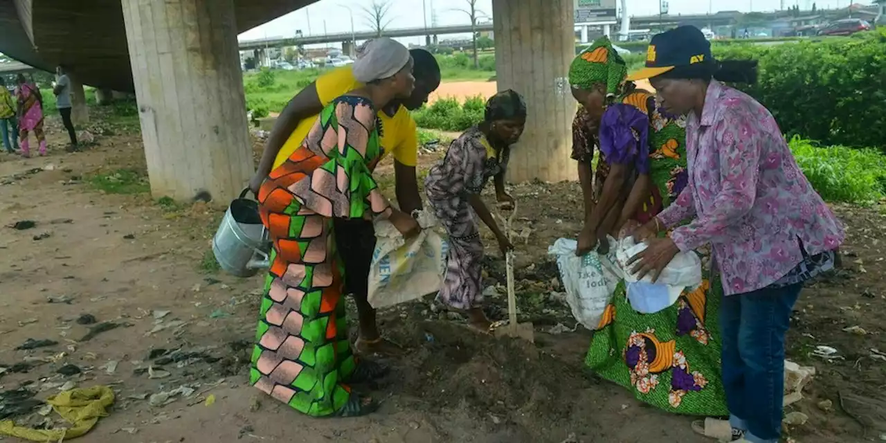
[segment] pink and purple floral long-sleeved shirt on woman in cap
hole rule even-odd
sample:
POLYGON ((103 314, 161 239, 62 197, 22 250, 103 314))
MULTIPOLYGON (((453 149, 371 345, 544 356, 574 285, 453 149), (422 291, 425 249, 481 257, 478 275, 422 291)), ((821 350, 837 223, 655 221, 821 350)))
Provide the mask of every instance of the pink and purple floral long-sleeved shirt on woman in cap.
POLYGON ((711 244, 726 295, 757 291, 833 251, 843 226, 797 166, 772 114, 713 81, 701 119, 688 115, 689 183, 658 220, 680 251, 711 244))

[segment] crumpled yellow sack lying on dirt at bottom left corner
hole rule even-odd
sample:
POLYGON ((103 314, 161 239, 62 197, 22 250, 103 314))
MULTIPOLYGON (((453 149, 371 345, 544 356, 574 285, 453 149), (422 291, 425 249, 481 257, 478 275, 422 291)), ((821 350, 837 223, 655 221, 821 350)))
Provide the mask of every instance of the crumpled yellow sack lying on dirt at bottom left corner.
POLYGON ((67 429, 36 430, 16 426, 12 420, 0 422, 0 435, 40 442, 76 439, 91 431, 98 419, 107 416, 113 404, 113 391, 107 386, 93 386, 61 392, 46 400, 58 415, 72 424, 67 429))

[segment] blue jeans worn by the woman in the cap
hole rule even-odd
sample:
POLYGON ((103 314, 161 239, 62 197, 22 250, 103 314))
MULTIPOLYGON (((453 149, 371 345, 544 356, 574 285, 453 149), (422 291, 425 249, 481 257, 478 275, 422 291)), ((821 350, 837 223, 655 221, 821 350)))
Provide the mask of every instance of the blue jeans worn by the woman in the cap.
POLYGON ((724 297, 723 387, 729 422, 753 443, 777 443, 784 396, 784 336, 803 284, 724 297))

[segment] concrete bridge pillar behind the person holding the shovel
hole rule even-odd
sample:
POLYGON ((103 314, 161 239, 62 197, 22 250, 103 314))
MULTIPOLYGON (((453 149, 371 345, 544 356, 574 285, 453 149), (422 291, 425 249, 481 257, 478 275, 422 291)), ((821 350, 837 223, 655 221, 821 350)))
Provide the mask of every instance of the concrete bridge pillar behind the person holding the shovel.
POLYGON ((571 154, 569 66, 575 57, 573 0, 493 0, 498 89, 514 89, 529 116, 511 153, 512 182, 559 182, 578 176, 571 154))

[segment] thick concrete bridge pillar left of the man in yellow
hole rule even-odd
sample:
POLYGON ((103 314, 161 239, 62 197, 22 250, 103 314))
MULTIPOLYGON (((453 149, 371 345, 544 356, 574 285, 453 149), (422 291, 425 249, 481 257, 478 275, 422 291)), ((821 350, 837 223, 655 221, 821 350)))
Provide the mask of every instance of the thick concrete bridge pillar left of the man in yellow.
POLYGON ((233 0, 122 0, 155 197, 227 202, 253 174, 233 0))

